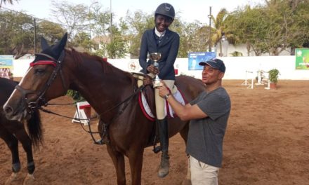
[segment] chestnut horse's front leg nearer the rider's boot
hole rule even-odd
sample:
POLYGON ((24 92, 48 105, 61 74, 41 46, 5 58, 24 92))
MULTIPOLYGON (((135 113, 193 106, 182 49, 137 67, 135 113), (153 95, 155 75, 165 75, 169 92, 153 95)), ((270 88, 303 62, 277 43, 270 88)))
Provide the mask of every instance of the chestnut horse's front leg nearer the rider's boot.
POLYGON ((131 149, 128 153, 132 185, 140 185, 143 167, 144 149, 131 149))

